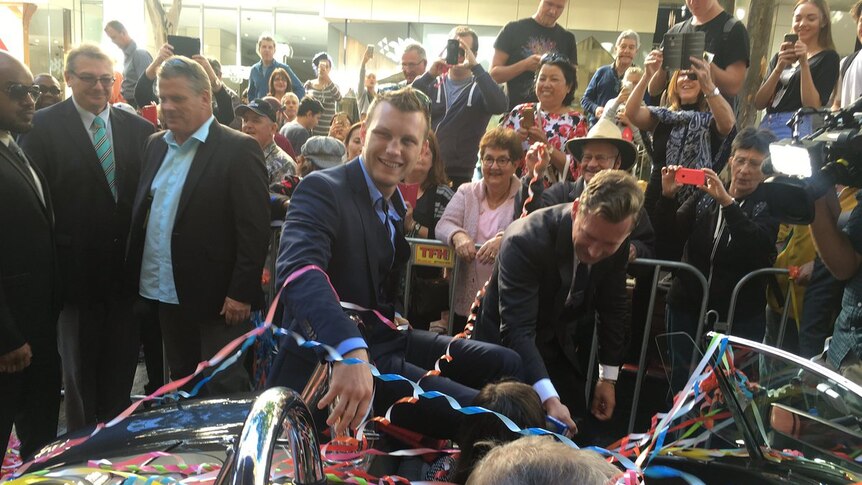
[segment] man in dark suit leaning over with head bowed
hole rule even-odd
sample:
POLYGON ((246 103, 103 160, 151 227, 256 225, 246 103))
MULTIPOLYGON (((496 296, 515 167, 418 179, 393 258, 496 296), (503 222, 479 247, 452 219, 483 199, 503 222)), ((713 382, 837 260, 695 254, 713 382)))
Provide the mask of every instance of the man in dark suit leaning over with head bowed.
POLYGON ((574 203, 538 210, 506 229, 474 338, 502 341, 524 360, 526 381, 548 415, 574 430, 585 408, 585 369, 572 336, 598 313, 599 381, 592 414, 613 415, 624 350, 629 234, 643 191, 621 170, 592 177, 574 203))

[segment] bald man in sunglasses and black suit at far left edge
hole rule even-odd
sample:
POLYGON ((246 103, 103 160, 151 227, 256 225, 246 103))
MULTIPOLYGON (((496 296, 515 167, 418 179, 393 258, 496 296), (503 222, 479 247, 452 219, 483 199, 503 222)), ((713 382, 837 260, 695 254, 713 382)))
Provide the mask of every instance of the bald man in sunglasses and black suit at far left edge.
POLYGON ((48 185, 13 140, 32 125, 39 87, 0 52, 0 454, 12 425, 29 456, 57 436, 60 295, 48 185))

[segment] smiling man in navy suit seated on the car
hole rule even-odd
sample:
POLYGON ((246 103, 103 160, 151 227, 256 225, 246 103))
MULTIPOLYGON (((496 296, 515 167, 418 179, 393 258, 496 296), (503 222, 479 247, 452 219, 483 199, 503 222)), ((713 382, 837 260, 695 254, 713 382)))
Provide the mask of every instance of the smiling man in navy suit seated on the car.
MULTIPOLYGON (((299 184, 282 229, 277 263, 279 282, 294 277, 281 296, 283 324, 344 357, 370 359, 383 373, 422 379, 426 391, 438 390, 468 405, 486 383, 517 376, 521 359, 493 344, 452 341, 409 329, 398 313, 399 285, 410 252, 398 183, 427 145, 428 129, 428 100, 421 93, 408 87, 381 94, 361 131, 362 154, 314 172, 299 184), (362 323, 357 325, 343 307, 352 308, 362 323), (453 359, 441 364, 442 376, 423 379, 450 342, 453 359)), ((270 385, 302 389, 324 357, 285 338, 270 385)), ((372 394, 379 414, 412 393, 405 383, 377 386, 373 393, 367 366, 336 363, 329 392, 318 403, 321 409, 337 403, 327 424, 338 432, 355 428, 372 394)), ((396 425, 440 438, 454 437, 459 424, 458 415, 442 399, 396 406, 391 417, 396 425)))

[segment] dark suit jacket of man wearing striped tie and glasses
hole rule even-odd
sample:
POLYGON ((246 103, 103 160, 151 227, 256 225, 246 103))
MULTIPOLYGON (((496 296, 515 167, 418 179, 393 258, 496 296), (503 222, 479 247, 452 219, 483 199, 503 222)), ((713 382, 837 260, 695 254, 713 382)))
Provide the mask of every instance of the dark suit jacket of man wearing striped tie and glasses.
POLYGON ((149 121, 111 109, 117 201, 91 135, 69 98, 36 112, 21 148, 45 174, 54 199, 56 240, 67 302, 103 301, 122 285, 132 201, 149 121))

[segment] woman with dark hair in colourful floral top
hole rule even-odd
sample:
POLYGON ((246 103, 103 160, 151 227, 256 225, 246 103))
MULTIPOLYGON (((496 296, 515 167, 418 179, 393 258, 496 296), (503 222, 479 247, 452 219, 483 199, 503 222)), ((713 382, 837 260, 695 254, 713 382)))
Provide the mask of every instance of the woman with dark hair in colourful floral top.
MULTIPOLYGON (((525 151, 537 141, 548 144, 551 148, 551 163, 545 174, 548 183, 577 178, 575 171, 578 164, 564 149, 570 139, 587 134, 586 123, 581 122, 581 113, 570 107, 575 97, 575 82, 575 68, 567 58, 546 54, 536 74, 536 97, 539 102, 515 106, 501 122, 504 128, 518 132, 525 151), (523 128, 522 122, 528 108, 535 113, 535 119, 533 126, 523 128)), ((531 172, 532 167, 525 167, 524 173, 531 172)))

